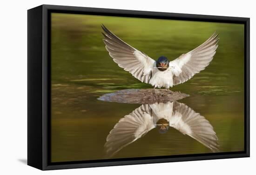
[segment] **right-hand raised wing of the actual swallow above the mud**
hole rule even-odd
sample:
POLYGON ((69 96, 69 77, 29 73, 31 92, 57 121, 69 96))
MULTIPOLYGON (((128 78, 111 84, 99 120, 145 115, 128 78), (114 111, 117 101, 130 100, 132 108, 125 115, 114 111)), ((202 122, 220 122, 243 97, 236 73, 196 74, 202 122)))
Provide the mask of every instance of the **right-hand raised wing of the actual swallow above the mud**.
POLYGON ((174 85, 188 81, 196 73, 205 69, 212 61, 218 47, 218 34, 216 32, 203 44, 191 50, 186 54, 182 54, 169 63, 173 71, 174 85))

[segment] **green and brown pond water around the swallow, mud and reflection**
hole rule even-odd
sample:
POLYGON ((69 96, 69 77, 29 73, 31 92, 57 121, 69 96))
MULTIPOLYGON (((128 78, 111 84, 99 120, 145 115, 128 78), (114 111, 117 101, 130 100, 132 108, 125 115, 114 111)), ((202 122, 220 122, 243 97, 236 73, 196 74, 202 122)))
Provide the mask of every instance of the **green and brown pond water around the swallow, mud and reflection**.
POLYGON ((217 31, 219 47, 210 65, 171 90, 189 94, 175 103, 209 121, 218 137, 214 152, 244 150, 243 25, 53 13, 52 162, 213 152, 174 127, 165 133, 151 128, 132 143, 125 142, 125 147, 117 146, 115 154, 106 152, 109 132, 141 104, 98 98, 117 90, 153 87, 113 62, 102 42, 101 24, 151 58, 163 55, 169 60, 193 50, 217 31))

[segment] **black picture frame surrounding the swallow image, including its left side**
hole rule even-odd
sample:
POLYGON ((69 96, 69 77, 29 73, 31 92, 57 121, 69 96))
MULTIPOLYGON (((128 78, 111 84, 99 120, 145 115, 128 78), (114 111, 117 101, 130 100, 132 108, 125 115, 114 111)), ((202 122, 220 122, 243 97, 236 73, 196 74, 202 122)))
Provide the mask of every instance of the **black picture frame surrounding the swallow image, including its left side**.
POLYGON ((27 11, 27 164, 41 170, 249 157, 249 18, 41 5, 27 11), (51 12, 244 24, 244 151, 50 162, 51 12))

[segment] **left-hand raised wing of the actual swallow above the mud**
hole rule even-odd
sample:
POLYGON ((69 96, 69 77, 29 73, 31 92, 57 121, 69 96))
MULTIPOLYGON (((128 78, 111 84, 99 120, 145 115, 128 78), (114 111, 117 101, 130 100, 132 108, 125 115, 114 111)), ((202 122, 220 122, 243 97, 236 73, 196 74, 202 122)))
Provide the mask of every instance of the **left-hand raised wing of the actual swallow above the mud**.
POLYGON ((105 33, 102 33, 104 36, 103 42, 106 44, 106 49, 114 62, 141 82, 148 83, 152 76, 155 60, 126 44, 104 25, 101 25, 101 27, 105 31, 105 33))

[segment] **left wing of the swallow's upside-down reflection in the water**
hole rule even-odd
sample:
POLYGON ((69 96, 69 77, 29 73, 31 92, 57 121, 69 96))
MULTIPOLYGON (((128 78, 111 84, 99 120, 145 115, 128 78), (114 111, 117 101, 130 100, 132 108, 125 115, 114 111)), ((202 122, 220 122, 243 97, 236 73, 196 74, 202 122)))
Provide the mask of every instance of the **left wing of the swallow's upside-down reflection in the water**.
POLYGON ((141 105, 129 115, 120 119, 109 132, 107 142, 104 145, 107 155, 113 156, 123 147, 131 144, 153 129, 153 118, 148 105, 141 105))

